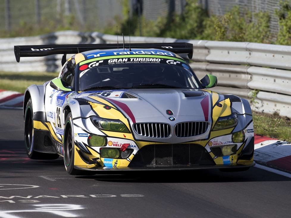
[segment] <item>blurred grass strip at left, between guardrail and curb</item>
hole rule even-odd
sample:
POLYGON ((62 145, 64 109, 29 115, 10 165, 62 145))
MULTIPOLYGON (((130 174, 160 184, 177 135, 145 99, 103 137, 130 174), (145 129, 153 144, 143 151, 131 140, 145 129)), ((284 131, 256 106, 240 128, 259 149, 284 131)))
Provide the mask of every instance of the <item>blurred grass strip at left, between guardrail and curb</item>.
POLYGON ((50 72, 3 72, 0 71, 0 89, 24 93, 32 85, 41 85, 45 81, 56 78, 58 73, 50 72))

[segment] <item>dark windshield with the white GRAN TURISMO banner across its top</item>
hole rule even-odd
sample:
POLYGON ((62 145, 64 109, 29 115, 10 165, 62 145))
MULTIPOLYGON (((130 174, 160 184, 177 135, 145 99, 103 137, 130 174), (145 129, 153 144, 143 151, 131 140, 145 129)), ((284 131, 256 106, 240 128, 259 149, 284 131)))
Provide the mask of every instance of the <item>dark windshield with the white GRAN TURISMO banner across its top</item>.
POLYGON ((79 90, 199 88, 183 62, 166 58, 120 58, 80 64, 79 90))

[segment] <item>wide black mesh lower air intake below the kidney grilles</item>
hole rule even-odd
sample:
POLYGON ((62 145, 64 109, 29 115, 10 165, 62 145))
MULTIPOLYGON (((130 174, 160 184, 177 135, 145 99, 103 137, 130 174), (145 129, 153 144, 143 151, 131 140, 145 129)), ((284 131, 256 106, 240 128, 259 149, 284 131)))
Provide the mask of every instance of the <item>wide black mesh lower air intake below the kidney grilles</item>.
POLYGON ((196 144, 147 145, 137 151, 129 167, 214 165, 208 151, 196 144))

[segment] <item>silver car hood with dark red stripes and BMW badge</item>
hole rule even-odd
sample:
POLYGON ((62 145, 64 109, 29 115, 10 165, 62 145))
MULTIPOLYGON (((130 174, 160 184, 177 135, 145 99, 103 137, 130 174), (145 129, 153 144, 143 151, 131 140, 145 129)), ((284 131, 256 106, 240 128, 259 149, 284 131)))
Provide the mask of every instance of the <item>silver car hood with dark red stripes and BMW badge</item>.
MULTIPOLYGON (((213 104, 224 101, 224 96, 216 92, 200 89, 129 89, 103 92, 86 92, 79 97, 101 97, 118 107, 132 123, 165 122, 172 116, 180 120, 210 121, 213 104), (214 103, 213 103, 214 102, 214 103), (166 113, 171 110, 173 115, 166 113), (182 118, 184 117, 184 118, 182 118)), ((216 110, 217 116, 222 113, 223 105, 216 110)))

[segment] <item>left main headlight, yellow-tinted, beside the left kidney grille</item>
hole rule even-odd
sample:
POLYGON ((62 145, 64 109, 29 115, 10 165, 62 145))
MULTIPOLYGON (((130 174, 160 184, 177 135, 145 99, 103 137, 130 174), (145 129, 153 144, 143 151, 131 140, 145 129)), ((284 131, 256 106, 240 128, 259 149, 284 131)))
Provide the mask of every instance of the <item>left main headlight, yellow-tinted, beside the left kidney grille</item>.
POLYGON ((99 129, 113 132, 130 133, 126 125, 120 120, 104 119, 98 116, 91 116, 90 119, 99 129))

